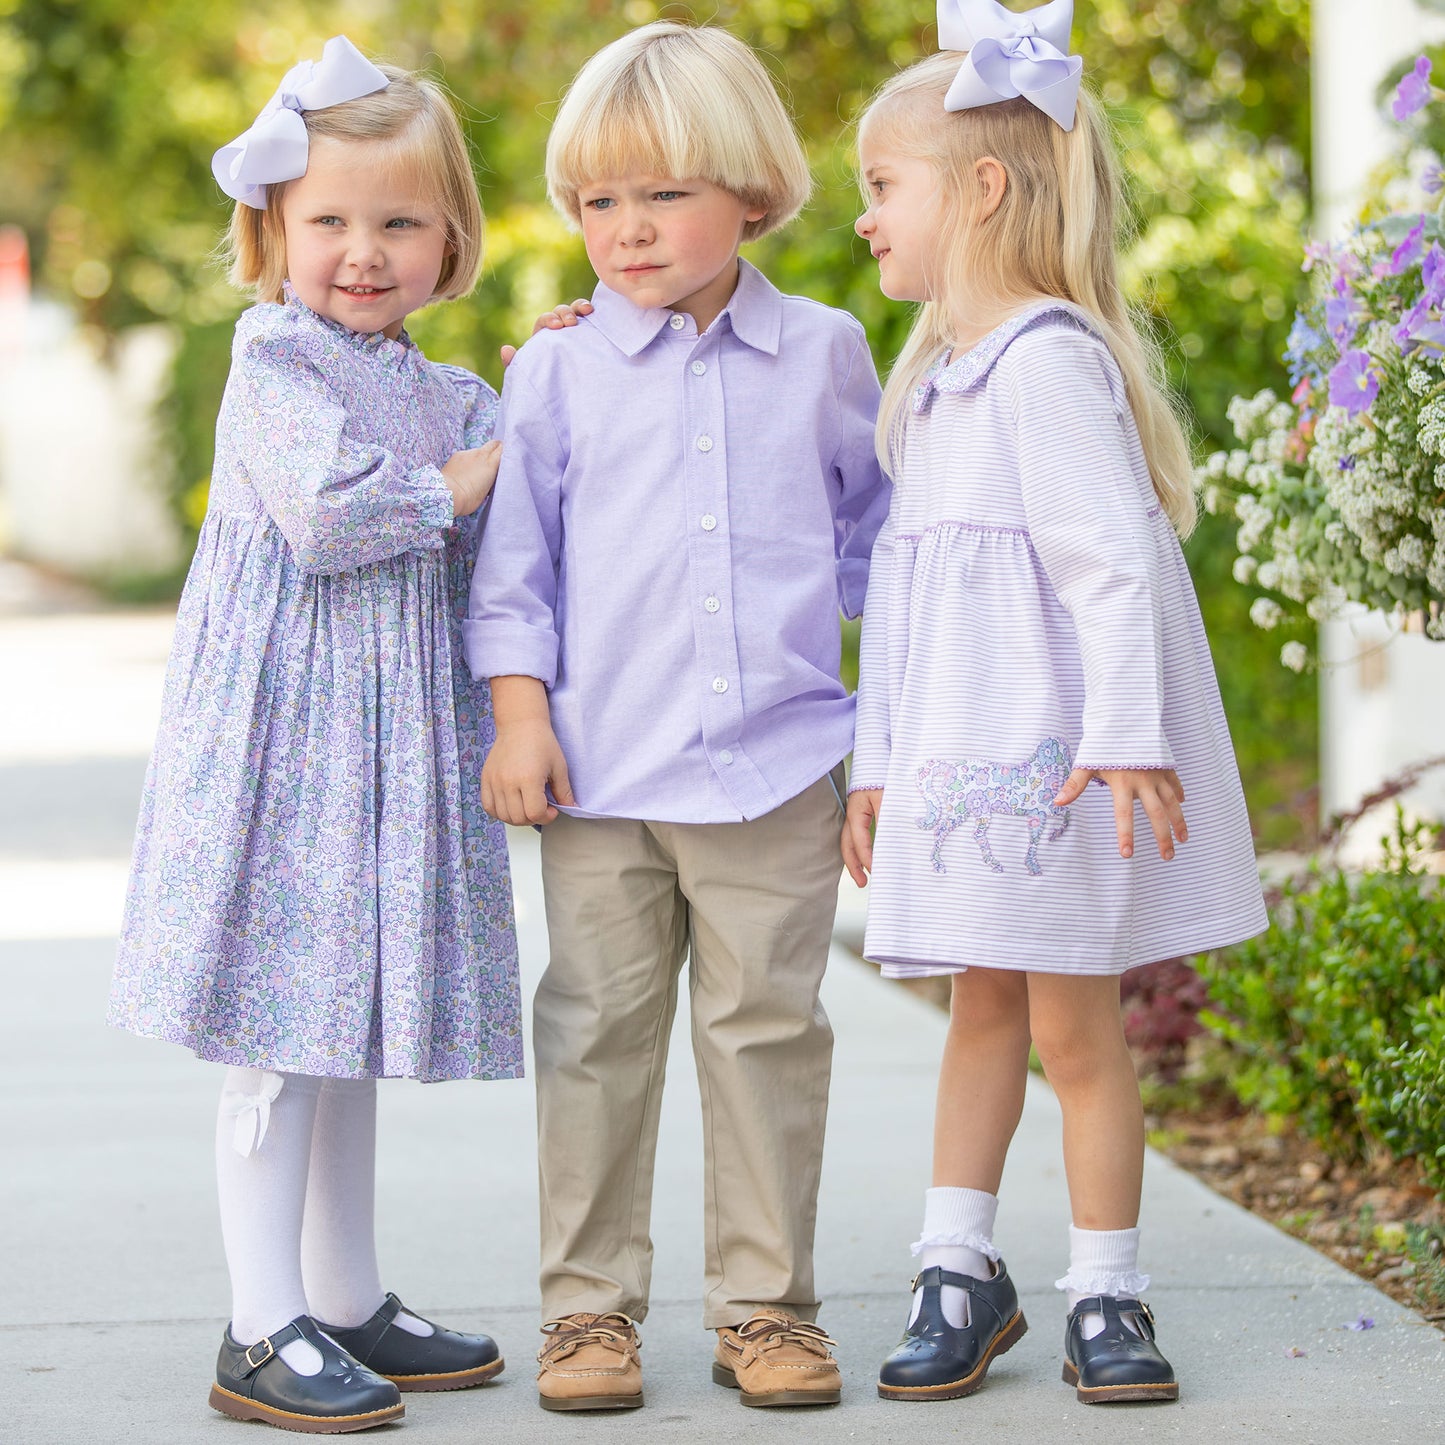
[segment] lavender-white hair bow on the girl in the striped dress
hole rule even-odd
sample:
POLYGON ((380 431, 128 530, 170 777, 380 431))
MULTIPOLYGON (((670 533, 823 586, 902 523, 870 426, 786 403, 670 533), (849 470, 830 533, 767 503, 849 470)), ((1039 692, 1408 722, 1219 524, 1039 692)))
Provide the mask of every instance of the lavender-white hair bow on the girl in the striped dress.
POLYGON ((938 45, 967 51, 945 110, 972 110, 1022 95, 1064 130, 1074 129, 1084 61, 1069 55, 1074 0, 1023 14, 996 0, 938 0, 938 45))

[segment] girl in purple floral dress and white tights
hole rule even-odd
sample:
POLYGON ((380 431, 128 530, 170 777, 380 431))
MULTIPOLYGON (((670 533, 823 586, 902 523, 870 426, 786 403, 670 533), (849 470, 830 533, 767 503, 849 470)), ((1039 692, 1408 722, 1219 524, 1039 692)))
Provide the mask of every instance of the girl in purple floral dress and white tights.
POLYGON ((377 1273, 376 1079, 522 1072, 506 840, 461 663, 496 394, 403 329, 481 210, 429 81, 344 38, 214 163, 238 321, 181 600, 110 1020, 227 1066, 233 1315, 211 1405, 334 1433, 477 1384, 496 1344, 377 1273))

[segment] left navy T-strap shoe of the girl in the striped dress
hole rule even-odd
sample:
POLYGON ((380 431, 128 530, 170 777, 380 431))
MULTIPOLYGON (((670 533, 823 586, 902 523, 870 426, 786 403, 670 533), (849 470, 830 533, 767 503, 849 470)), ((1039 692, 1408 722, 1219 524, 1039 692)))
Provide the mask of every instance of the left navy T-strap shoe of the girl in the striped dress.
POLYGON ((988 1366, 1029 1328, 1003 1260, 993 1279, 933 1266, 913 1280, 913 1289, 923 1290, 918 1315, 879 1371, 884 1400, 957 1400, 972 1394, 988 1366), (968 1296, 965 1322, 957 1329, 944 1318, 945 1285, 968 1296))

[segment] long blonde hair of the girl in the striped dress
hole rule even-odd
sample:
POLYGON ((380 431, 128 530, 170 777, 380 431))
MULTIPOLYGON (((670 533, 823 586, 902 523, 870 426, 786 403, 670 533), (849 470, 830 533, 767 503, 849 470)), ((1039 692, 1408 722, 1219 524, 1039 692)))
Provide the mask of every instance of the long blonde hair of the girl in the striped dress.
POLYGON ((929 163, 938 176, 932 301, 889 374, 879 412, 879 458, 896 471, 905 403, 959 332, 988 331, 1040 298, 1069 301, 1098 327, 1124 377, 1155 493, 1186 536, 1196 507, 1189 444, 1163 377, 1157 345, 1136 321, 1118 282, 1123 191, 1108 124, 1081 91, 1072 131, 1023 98, 946 111, 944 95, 962 55, 931 55, 887 81, 860 123, 860 140, 929 163), (981 224, 977 162, 1007 172, 997 210, 981 224))

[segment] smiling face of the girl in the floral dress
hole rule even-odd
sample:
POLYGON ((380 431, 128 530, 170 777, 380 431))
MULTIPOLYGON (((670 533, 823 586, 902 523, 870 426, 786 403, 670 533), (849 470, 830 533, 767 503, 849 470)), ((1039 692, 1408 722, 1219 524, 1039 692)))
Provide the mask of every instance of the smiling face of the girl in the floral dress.
POLYGON ((405 162, 368 142, 311 142, 306 173, 280 202, 286 276, 312 311, 393 341, 436 293, 447 223, 405 162))

